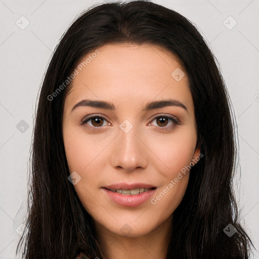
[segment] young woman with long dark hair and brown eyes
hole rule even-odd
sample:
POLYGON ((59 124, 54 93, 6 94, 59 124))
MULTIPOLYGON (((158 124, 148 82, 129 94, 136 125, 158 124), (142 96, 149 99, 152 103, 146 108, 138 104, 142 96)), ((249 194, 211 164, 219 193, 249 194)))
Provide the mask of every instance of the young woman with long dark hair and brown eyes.
POLYGON ((40 92, 24 258, 248 258, 231 115, 185 17, 147 1, 81 14, 40 92))

